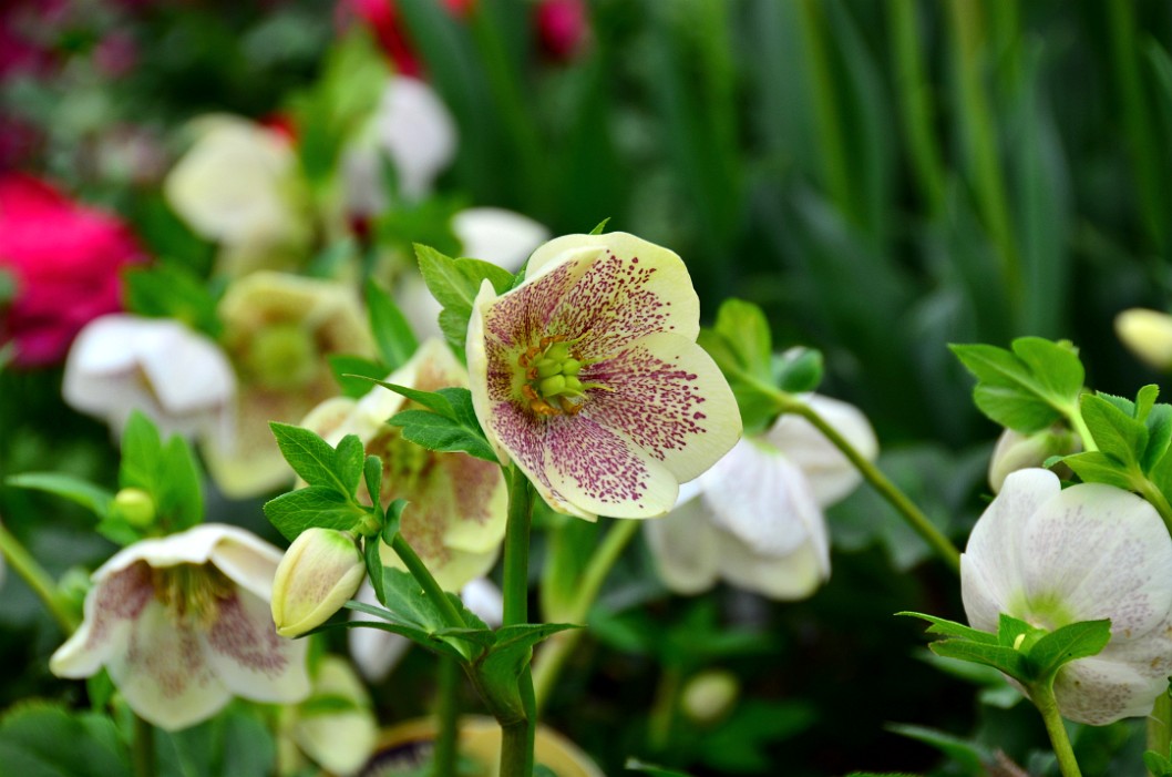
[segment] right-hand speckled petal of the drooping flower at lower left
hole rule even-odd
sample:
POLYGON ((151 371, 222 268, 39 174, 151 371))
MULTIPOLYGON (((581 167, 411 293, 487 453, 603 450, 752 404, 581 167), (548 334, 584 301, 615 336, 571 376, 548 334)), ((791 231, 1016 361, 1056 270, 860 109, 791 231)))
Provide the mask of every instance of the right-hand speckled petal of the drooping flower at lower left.
POLYGON ((238 696, 291 703, 309 693, 308 642, 278 636, 265 599, 238 589, 222 600, 202 642, 216 675, 238 696))

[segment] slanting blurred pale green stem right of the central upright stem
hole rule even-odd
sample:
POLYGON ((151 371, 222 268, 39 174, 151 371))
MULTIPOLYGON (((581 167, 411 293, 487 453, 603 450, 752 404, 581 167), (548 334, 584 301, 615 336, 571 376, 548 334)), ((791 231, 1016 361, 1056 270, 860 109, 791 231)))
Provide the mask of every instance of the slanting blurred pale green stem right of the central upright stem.
MULTIPOLYGON (((602 582, 638 531, 638 520, 616 520, 611 526, 586 565, 586 571, 578 585, 578 594, 565 612, 554 614, 556 620, 564 620, 567 623, 584 623, 586 621, 586 614, 594 600, 598 599, 602 582)), ((553 687, 557 684, 558 675, 561 674, 566 659, 581 640, 582 633, 582 629, 575 628, 554 634, 537 654, 537 659, 533 661, 533 689, 537 695, 538 710, 545 707, 548 701, 550 694, 553 693, 553 687)))

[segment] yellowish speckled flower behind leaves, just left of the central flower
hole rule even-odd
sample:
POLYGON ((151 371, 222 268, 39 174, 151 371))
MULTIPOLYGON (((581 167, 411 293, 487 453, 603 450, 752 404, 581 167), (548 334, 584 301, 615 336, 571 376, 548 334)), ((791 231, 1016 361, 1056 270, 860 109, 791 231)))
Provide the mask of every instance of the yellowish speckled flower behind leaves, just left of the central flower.
MULTIPOLYGON (((468 384, 468 374, 440 340, 428 340, 388 382, 422 391, 468 384)), ((301 425, 336 444, 359 436, 368 456, 382 459, 383 504, 407 499, 400 532, 427 563, 444 591, 458 591, 497 560, 507 518, 507 489, 500 468, 466 454, 440 454, 403 439, 387 420, 410 407, 398 394, 375 388, 361 400, 335 397, 315 408, 301 425)), ((364 486, 363 486, 364 488, 364 486)), ((406 570, 383 545, 382 561, 406 570)))

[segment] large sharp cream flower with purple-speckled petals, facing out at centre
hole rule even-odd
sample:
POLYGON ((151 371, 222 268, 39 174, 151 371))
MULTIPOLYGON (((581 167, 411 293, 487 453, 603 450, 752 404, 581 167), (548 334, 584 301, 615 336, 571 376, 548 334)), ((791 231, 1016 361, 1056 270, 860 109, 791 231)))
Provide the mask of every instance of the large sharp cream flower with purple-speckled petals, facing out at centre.
POLYGON ((557 238, 517 288, 481 287, 468 327, 476 415, 554 510, 662 514, 741 435, 699 332, 672 251, 621 232, 557 238))

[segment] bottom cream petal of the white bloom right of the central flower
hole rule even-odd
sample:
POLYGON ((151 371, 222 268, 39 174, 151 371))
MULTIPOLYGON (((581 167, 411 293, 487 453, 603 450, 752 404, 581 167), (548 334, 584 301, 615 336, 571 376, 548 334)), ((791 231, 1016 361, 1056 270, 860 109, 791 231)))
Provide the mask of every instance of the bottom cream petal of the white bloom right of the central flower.
POLYGON ((825 526, 785 556, 758 552, 729 532, 720 532, 720 571, 731 585, 770 599, 805 599, 830 579, 825 526))

